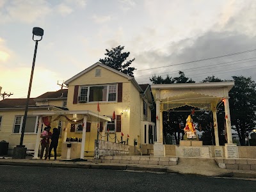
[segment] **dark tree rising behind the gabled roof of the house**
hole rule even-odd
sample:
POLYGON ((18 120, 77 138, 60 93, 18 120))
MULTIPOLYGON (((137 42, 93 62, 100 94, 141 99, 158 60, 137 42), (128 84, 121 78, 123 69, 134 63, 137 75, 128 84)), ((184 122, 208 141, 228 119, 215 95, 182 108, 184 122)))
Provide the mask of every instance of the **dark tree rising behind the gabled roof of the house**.
POLYGON ((99 61, 104 65, 108 65, 109 67, 115 68, 116 70, 127 74, 128 76, 134 77, 133 71, 136 70, 136 68, 129 66, 131 65, 132 61, 135 60, 135 58, 124 63, 124 61, 129 57, 130 52, 122 52, 123 49, 124 46, 120 45, 112 48, 110 51, 106 49, 107 52, 105 55, 108 57, 100 59, 99 61))

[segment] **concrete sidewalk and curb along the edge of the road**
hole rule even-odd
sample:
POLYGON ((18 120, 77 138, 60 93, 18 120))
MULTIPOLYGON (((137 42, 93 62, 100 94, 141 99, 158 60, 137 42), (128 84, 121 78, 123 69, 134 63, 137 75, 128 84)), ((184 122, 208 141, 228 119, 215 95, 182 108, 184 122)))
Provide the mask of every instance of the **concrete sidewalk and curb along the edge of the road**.
POLYGON ((179 159, 177 165, 162 166, 162 165, 145 165, 145 164, 122 164, 122 163, 95 163, 90 157, 88 161, 57 161, 32 159, 12 159, 12 157, 0 157, 0 165, 12 166, 44 166, 44 167, 60 167, 60 168, 90 168, 90 169, 104 169, 104 170, 127 170, 127 171, 141 171, 141 172, 161 172, 161 173, 182 173, 182 174, 196 174, 208 177, 239 177, 239 178, 253 178, 256 179, 255 171, 246 170, 226 170, 221 169, 214 163, 214 159, 209 161, 193 161, 193 159, 179 159), (193 164, 193 166, 191 166, 193 164))

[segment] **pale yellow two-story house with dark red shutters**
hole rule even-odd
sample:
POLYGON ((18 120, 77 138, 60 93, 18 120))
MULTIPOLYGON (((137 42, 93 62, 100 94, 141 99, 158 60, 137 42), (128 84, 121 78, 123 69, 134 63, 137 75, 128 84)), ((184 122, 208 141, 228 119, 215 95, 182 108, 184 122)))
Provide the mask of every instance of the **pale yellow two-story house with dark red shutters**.
MULTIPOLYGON (((65 84, 67 90, 47 92, 31 99, 28 116, 33 122, 28 122, 28 118, 24 145, 33 144, 37 149, 40 132, 47 124, 60 130, 60 144, 67 138, 81 138, 81 157, 93 156, 97 138, 126 141, 126 145, 136 145, 138 149, 156 141, 156 126, 151 122, 153 97, 149 84, 139 85, 133 77, 99 62, 65 84), (36 129, 37 125, 40 128, 36 129)), ((17 99, 17 104, 4 106, 8 100, 12 103, 12 99, 0 102, 0 140, 8 141, 12 151, 19 145, 26 99, 17 99)))

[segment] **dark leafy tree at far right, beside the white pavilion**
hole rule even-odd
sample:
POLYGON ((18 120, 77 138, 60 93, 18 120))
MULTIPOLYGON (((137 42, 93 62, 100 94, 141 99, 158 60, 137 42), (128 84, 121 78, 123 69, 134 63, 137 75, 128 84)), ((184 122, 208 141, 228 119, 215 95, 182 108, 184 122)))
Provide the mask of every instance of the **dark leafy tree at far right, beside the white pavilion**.
POLYGON ((237 131, 241 145, 245 136, 255 128, 256 84, 252 77, 233 76, 234 87, 229 92, 231 125, 237 131))

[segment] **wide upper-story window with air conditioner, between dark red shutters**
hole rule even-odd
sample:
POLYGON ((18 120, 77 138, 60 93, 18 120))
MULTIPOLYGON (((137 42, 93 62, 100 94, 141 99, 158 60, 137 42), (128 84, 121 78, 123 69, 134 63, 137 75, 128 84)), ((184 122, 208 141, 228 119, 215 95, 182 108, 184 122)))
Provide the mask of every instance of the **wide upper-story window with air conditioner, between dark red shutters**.
POLYGON ((116 101, 116 84, 101 86, 81 86, 79 102, 116 101))

